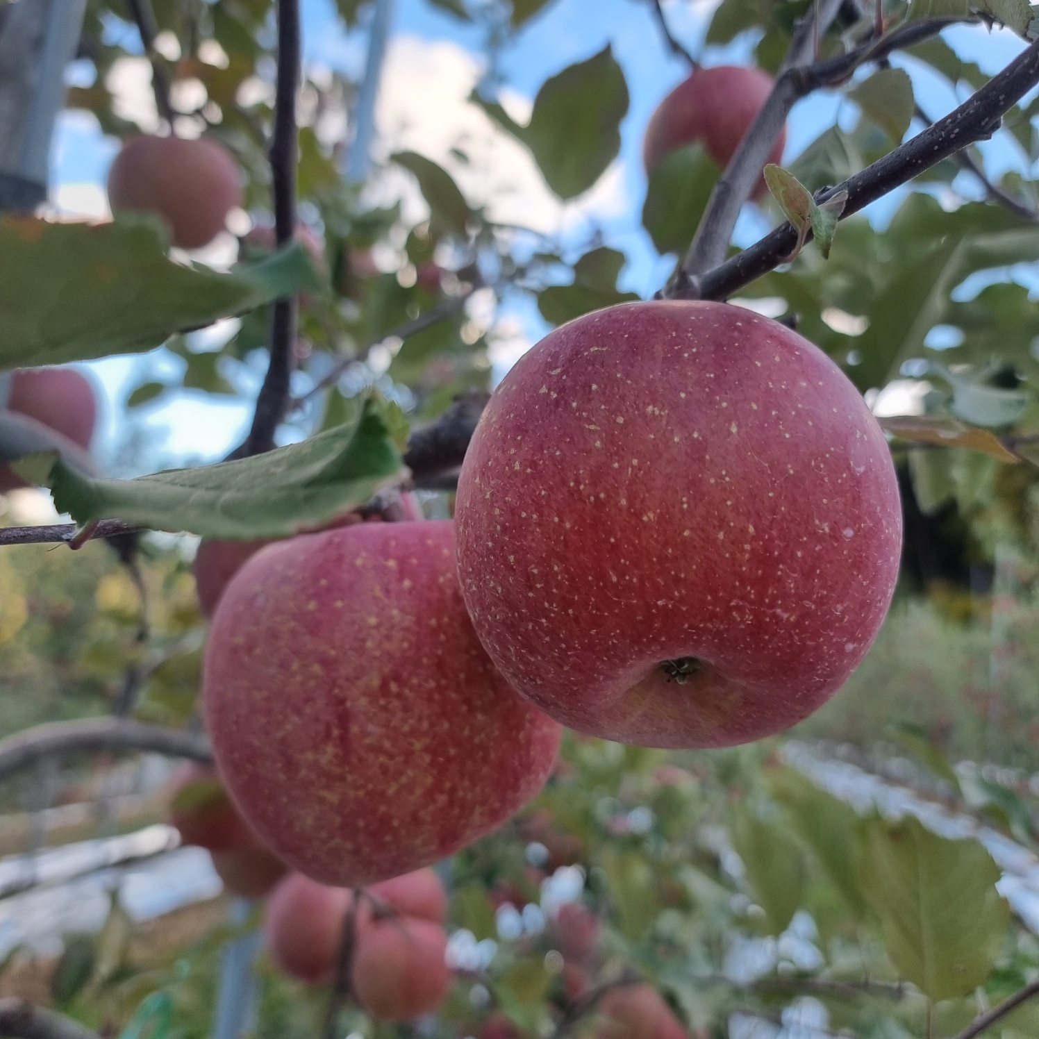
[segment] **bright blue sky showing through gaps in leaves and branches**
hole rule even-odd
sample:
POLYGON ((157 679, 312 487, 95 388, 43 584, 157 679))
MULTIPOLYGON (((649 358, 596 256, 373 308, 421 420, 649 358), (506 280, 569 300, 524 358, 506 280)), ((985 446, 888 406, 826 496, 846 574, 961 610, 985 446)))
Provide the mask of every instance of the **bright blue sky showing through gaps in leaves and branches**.
MULTIPOLYGON (((672 0, 665 3, 672 31, 686 47, 708 64, 746 62, 752 41, 738 39, 726 48, 702 50, 701 42, 714 3, 672 0)), ((331 0, 302 0, 305 60, 339 68, 357 75, 364 65, 365 33, 347 33, 339 22, 331 0)), ((444 14, 426 0, 398 0, 394 21, 394 39, 408 38, 412 46, 450 42, 462 51, 482 54, 481 31, 444 14)), ((945 38, 964 58, 977 61, 983 70, 993 73, 1002 68, 1023 44, 1007 31, 988 33, 981 28, 948 30, 945 38)), ((646 0, 555 0, 545 11, 529 23, 500 57, 500 69, 509 90, 533 99, 538 87, 549 77, 567 64, 589 57, 606 44, 624 70, 631 94, 631 107, 622 127, 622 149, 615 193, 622 205, 596 214, 596 224, 603 229, 608 244, 622 249, 629 258, 622 275, 625 288, 642 295, 651 294, 662 284, 670 269, 670 261, 656 256, 639 222, 645 179, 640 149, 643 129, 656 105, 687 74, 684 61, 664 45, 646 0)), ((957 98, 939 79, 913 62, 900 61, 913 76, 917 100, 932 117, 943 114, 957 103, 957 98)), ((406 88, 388 81, 383 88, 392 94, 406 88)), ((960 99, 962 100, 962 99, 960 99)), ((406 105, 407 99, 401 99, 406 105)), ((834 118, 850 128, 857 118, 852 104, 831 94, 816 95, 801 102, 793 111, 788 127, 787 158, 796 156, 830 126, 834 118)), ((115 151, 116 143, 104 138, 96 126, 82 115, 60 121, 54 142, 52 182, 55 186, 101 185, 115 151)), ((1020 158, 1005 141, 985 145, 986 161, 994 175, 1006 168, 1020 167, 1020 158)), ((609 176, 609 175, 607 175, 609 176)), ((959 186, 959 185, 958 185, 959 186)), ((965 191, 974 187, 964 180, 965 191)), ((883 199, 873 207, 871 215, 880 221, 887 218, 899 198, 883 199)), ((737 230, 737 240, 748 244, 768 229, 756 211, 749 207, 737 230)), ((585 229, 586 230, 586 229, 585 229)), ((582 237, 580 221, 569 234, 582 237)), ((515 316, 529 340, 536 339, 543 325, 532 307, 514 308, 515 316)), ((108 408, 109 422, 98 445, 102 455, 110 451, 126 430, 116 424, 117 405, 148 366, 176 366, 175 358, 164 351, 145 358, 113 358, 94 367, 113 405, 108 408)), ((261 373, 246 374, 240 382, 244 394, 255 389, 261 373)), ((241 436, 248 418, 248 402, 223 404, 194 394, 183 394, 177 400, 160 402, 151 409, 141 409, 134 421, 150 430, 155 448, 150 455, 163 463, 176 463, 191 458, 210 460, 219 457, 241 436)))

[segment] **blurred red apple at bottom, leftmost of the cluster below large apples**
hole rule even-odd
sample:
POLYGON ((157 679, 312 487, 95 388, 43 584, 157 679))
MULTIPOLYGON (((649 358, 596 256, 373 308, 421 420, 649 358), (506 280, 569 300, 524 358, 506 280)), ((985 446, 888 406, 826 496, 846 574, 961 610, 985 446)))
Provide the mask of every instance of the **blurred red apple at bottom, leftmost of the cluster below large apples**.
POLYGON ((271 894, 264 921, 267 947, 278 968, 314 985, 330 980, 352 900, 345 887, 289 874, 271 894))

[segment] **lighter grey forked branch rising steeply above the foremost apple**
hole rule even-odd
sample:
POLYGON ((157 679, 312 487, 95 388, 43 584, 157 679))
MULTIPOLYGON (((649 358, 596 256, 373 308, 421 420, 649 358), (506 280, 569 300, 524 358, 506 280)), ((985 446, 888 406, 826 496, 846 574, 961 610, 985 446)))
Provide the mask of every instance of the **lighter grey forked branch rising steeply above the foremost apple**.
MULTIPOLYGON (((725 259, 740 210, 754 190, 762 168, 768 160, 772 145, 782 132, 790 110, 801 98, 821 87, 843 83, 860 65, 871 61, 882 61, 895 50, 911 47, 936 35, 950 25, 964 21, 956 18, 934 18, 910 22, 886 36, 869 39, 847 54, 827 61, 805 65, 792 60, 798 55, 807 53, 806 42, 812 25, 821 25, 823 18, 827 16, 832 20, 837 7, 840 4, 833 7, 832 12, 829 8, 824 9, 818 22, 806 19, 798 27, 801 38, 795 36, 791 43, 790 53, 776 78, 772 92, 711 192, 708 207, 696 229, 696 236, 689 247, 675 285, 672 286, 674 291, 665 292, 665 295, 691 298, 688 291, 689 283, 704 271, 717 267, 725 259), (683 288, 686 289, 685 292, 682 291, 683 288)), ((966 19, 966 21, 975 20, 966 19)))

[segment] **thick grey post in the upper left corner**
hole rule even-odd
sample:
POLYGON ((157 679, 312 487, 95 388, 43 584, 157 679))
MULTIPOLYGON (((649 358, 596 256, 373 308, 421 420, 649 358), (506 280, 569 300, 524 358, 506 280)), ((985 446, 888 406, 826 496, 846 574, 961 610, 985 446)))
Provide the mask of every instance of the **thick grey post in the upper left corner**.
POLYGON ((86 0, 18 0, 0 8, 0 210, 47 197, 54 121, 86 0))

